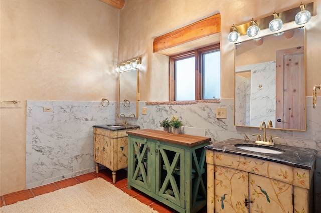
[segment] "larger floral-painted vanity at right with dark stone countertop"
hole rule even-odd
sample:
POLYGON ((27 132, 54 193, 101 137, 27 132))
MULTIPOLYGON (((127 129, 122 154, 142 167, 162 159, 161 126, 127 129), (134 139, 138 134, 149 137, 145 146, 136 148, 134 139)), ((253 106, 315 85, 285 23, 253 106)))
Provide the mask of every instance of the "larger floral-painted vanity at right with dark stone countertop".
POLYGON ((282 154, 235 147, 229 139, 206 146, 207 212, 313 212, 317 151, 276 145, 282 154))

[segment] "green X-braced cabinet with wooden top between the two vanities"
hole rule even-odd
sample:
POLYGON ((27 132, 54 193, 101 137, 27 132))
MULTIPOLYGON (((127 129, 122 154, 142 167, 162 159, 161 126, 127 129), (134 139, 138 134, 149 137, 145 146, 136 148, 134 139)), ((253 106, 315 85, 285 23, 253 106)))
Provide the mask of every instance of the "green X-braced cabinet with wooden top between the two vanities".
POLYGON ((179 212, 206 206, 204 146, 210 138, 151 129, 128 133, 128 188, 179 212))

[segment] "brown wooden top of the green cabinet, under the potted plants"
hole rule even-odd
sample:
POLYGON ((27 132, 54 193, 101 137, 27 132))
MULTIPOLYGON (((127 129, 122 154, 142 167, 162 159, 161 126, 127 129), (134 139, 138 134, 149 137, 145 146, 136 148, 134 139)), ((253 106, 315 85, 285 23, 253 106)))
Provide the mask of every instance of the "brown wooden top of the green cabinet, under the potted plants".
POLYGON ((139 137, 146 137, 154 140, 161 140, 164 142, 175 143, 188 147, 193 147, 199 144, 208 143, 211 141, 209 137, 200 137, 188 134, 173 134, 164 133, 163 131, 142 129, 135 131, 127 131, 127 134, 136 135, 139 137))

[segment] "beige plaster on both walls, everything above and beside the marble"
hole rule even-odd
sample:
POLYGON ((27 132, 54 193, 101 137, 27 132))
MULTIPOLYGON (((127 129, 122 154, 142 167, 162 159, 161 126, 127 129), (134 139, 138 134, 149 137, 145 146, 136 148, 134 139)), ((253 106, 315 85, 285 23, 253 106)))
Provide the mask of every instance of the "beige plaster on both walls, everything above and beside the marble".
MULTIPOLYGON (((0 0, 0 99, 21 101, 0 106, 0 194, 25 187, 27 99, 116 101, 114 65, 141 56, 141 100, 167 101, 169 61, 153 53, 153 39, 217 13, 221 13, 221 97, 233 98, 234 47, 226 39, 232 24, 300 2, 127 0, 119 11, 98 0, 0 0)), ((321 4, 315 3, 320 11, 321 4)), ((321 83, 320 25, 319 15, 306 24, 307 95, 321 83)))

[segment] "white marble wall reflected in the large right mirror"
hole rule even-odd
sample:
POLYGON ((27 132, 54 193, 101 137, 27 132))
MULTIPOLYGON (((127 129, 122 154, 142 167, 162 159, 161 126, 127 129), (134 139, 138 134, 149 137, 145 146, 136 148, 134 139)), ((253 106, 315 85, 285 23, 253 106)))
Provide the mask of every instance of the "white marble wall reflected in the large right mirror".
MULTIPOLYGON (((274 120, 276 111, 275 61, 236 67, 236 72, 244 71, 251 72, 249 77, 251 82, 249 84, 248 78, 245 79, 241 76, 236 78, 237 114, 242 117, 250 117, 250 126, 259 126, 262 120, 274 120), (245 93, 248 87, 250 87, 250 94, 245 93), (250 102, 242 96, 244 94, 250 96, 250 102), (245 106, 246 109, 244 109, 245 106), (244 113, 246 113, 246 116, 244 116, 244 113)), ((236 117, 236 120, 238 125, 243 125, 242 122, 246 121, 238 117, 236 117)))

